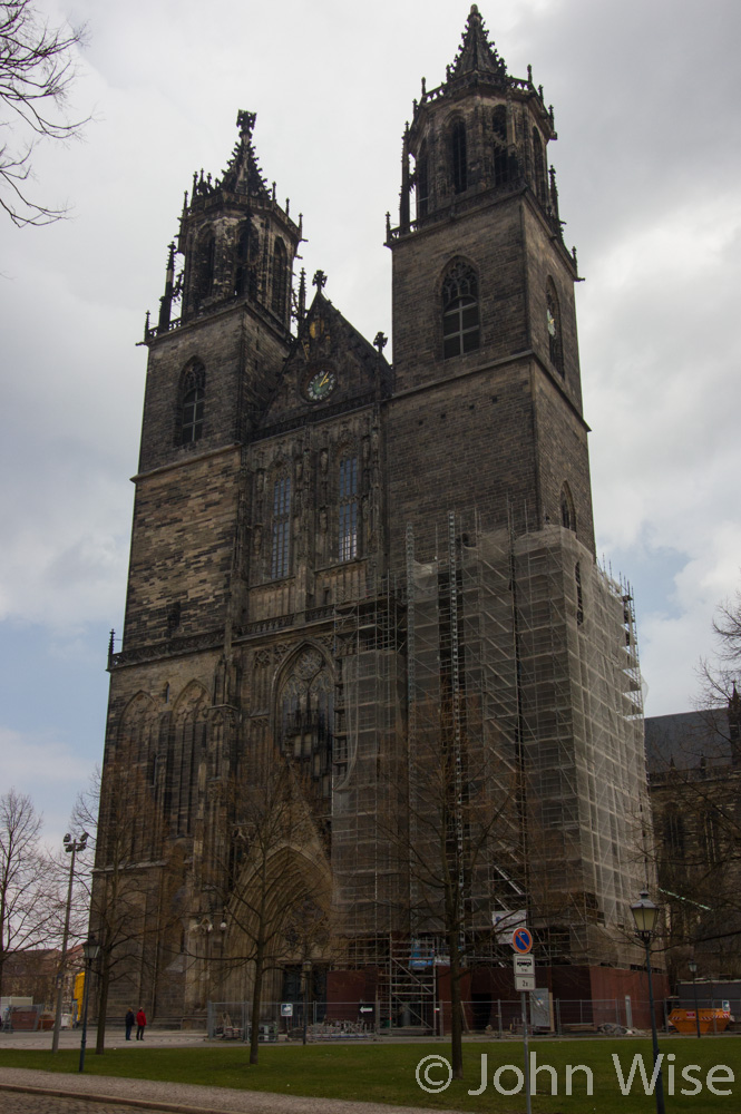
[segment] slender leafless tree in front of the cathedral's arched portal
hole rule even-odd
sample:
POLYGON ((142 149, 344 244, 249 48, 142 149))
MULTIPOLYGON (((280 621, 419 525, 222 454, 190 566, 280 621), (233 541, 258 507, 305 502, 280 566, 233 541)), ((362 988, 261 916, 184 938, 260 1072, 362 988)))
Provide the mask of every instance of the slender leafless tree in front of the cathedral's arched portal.
POLYGON ((251 968, 250 1063, 256 1064, 266 974, 296 948, 300 959, 312 958, 326 939, 331 899, 329 864, 308 794, 272 744, 252 756, 232 786, 220 844, 214 883, 228 921, 224 964, 251 968))

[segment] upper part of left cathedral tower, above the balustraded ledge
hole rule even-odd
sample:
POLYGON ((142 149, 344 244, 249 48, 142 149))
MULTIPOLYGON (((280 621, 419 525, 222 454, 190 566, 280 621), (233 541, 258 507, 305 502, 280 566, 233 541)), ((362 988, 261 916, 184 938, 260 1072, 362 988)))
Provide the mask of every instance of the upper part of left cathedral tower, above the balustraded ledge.
POLYGON ((301 241, 289 203, 276 202, 257 166, 254 121, 238 114, 240 138, 221 180, 194 175, 177 240, 183 268, 175 283, 170 245, 158 323, 146 331, 124 652, 186 635, 223 641, 243 606, 240 478, 291 343, 301 241))

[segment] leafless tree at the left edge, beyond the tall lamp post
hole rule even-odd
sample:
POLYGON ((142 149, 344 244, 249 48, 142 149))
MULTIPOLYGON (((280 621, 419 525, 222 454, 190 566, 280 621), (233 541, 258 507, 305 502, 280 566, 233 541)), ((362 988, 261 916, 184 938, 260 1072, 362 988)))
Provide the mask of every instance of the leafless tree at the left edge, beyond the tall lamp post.
POLYGON ((40 843, 42 818, 14 789, 0 797, 0 990, 7 960, 56 942, 60 901, 40 843))

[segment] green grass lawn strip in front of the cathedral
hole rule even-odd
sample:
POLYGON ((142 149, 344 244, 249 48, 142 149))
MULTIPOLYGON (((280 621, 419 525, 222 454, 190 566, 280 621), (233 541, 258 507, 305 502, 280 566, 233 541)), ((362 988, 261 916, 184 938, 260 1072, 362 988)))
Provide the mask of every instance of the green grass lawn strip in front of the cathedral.
MULTIPOLYGON (((666 1112, 686 1111, 692 1114, 709 1114, 715 1111, 738 1110, 741 1097, 741 1040, 733 1036, 664 1039, 664 1054, 675 1059, 664 1067, 664 1092, 666 1112), (699 1065, 691 1077, 682 1078, 682 1069, 699 1065), (714 1095, 708 1087, 708 1071, 716 1065, 727 1065, 729 1071, 719 1069, 711 1077, 716 1089, 730 1091, 730 1095, 714 1095), (671 1094, 671 1072, 673 1067, 674 1094, 671 1094), (732 1075, 731 1075, 732 1073, 732 1075), (694 1079, 698 1083, 693 1082, 694 1079), (738 1082, 737 1082, 738 1081, 738 1082), (688 1091, 701 1089, 691 1095, 688 1091)), ((601 1114, 624 1111, 625 1114, 641 1114, 655 1111, 655 1098, 644 1093, 640 1075, 633 1079, 630 1096, 623 1096, 617 1079, 613 1053, 620 1057, 624 1081, 627 1081, 633 1057, 640 1054, 646 1074, 651 1076, 651 1043, 635 1039, 581 1039, 552 1040, 548 1038, 530 1043, 530 1052, 537 1058, 537 1066, 547 1064, 556 1069, 557 1094, 550 1095, 550 1075, 543 1072, 537 1078, 537 1093, 533 1097, 534 1114, 601 1114), (571 1065, 585 1065, 592 1072, 594 1093, 587 1094, 586 1073, 573 1073, 572 1095, 566 1094, 567 1072, 571 1065)), ((260 1049, 260 1064, 250 1067, 248 1049, 243 1045, 195 1048, 120 1048, 96 1056, 88 1051, 85 1062, 88 1075, 118 1075, 142 1079, 173 1079, 178 1083, 206 1084, 209 1086, 237 1087, 253 1091, 271 1091, 293 1095, 312 1095, 328 1098, 362 1098, 370 1102, 397 1103, 409 1106, 428 1106, 432 1110, 447 1107, 460 1111, 519 1112, 525 1110, 524 1087, 519 1094, 510 1096, 498 1093, 493 1085, 494 1073, 503 1065, 523 1066, 523 1045, 517 1040, 491 1042, 465 1045, 465 1072, 462 1083, 454 1082, 440 1094, 427 1094, 417 1083, 417 1064, 425 1056, 449 1056, 442 1044, 372 1044, 372 1045, 264 1045, 260 1049), (486 1054, 486 1089, 480 1095, 469 1095, 469 1089, 478 1089, 481 1079, 481 1055, 486 1054)), ((2 1049, 0 1045, 0 1067, 33 1067, 52 1072, 76 1072, 78 1053, 62 1049, 56 1056, 49 1052, 25 1052, 2 1049)), ((432 1068, 433 1079, 443 1068, 432 1068)), ((499 1076, 503 1088, 517 1086, 518 1077, 511 1071, 499 1076)), ((625 1082, 626 1085, 626 1082, 625 1082)))

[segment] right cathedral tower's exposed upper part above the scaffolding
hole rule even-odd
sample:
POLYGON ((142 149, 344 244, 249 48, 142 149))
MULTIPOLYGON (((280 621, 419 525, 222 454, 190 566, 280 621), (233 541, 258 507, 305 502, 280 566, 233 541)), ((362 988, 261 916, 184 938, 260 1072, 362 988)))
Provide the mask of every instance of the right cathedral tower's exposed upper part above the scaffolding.
POLYGON ((563 522, 594 553, 555 138, 543 89, 510 77, 474 6, 445 82, 422 82, 403 136, 389 438, 416 466, 391 490, 400 522, 442 499, 516 532, 563 522))

